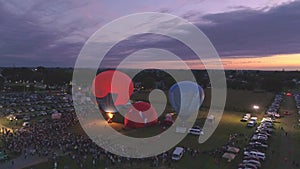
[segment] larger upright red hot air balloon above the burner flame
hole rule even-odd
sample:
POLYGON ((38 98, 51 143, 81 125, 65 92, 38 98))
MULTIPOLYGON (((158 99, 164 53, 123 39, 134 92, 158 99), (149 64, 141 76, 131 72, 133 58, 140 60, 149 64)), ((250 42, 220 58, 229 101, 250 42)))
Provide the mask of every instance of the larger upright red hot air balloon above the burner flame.
MULTIPOLYGON (((97 98, 104 98, 108 94, 116 96, 114 105, 124 105, 133 93, 133 83, 129 76, 117 70, 99 73, 92 84, 93 94, 97 98)), ((113 103, 112 103, 113 104, 113 103)))

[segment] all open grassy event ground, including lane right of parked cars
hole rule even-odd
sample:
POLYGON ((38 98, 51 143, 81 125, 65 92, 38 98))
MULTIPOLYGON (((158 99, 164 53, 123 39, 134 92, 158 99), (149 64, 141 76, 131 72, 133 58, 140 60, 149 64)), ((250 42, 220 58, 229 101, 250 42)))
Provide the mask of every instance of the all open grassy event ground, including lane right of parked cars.
MULTIPOLYGON (((250 129, 246 127, 245 123, 240 122, 241 116, 245 113, 245 111, 238 111, 238 107, 240 109, 250 110, 250 107, 253 104, 259 103, 262 110, 258 112, 252 112, 253 114, 257 114, 259 118, 263 116, 263 109, 267 107, 271 102, 273 94, 270 93, 252 93, 252 92, 244 92, 244 91, 229 91, 228 99, 227 99, 227 108, 234 109, 231 111, 225 111, 222 117, 222 120, 212 135, 212 137, 204 144, 199 144, 197 142, 197 137, 187 136, 179 146, 185 146, 189 148, 200 149, 200 151, 210 151, 215 148, 218 148, 227 143, 229 139, 229 135, 233 133, 243 133, 246 136, 251 136, 254 132, 254 129, 250 129)), ((207 103, 204 103, 204 106, 207 103)), ((203 118, 206 117, 206 109, 203 109, 199 113, 199 122, 203 121, 203 118)), ((296 165, 293 165, 293 161, 295 163, 300 163, 300 160, 296 157, 300 156, 300 152, 297 151, 300 148, 300 127, 298 127, 298 119, 299 115, 297 114, 295 102, 292 97, 284 97, 283 103, 281 104, 280 112, 289 111, 291 115, 281 118, 278 123, 276 123, 275 133, 272 135, 270 140, 267 152, 267 160, 263 164, 263 168, 273 168, 273 169, 293 169, 296 168, 296 165), (283 127, 284 130, 281 130, 283 127), (287 136, 286 136, 287 132, 287 136), (287 160, 284 160, 287 159, 287 160), (284 168, 284 167, 285 168, 284 168)), ((144 137, 159 132, 161 127, 155 126, 147 129, 135 129, 135 130, 127 130, 122 131, 121 124, 113 124, 119 126, 120 131, 124 132, 126 135, 136 136, 136 137, 144 137), (145 134, 146 133, 146 134, 145 134), (152 133, 152 134, 151 134, 152 133)), ((70 131, 78 134, 82 134, 80 126, 76 126, 70 128, 70 131)), ((240 147, 244 147, 246 141, 243 138, 239 139, 238 145, 240 147)), ((189 154, 185 154, 183 159, 179 162, 174 162, 172 164, 172 168, 180 168, 180 169, 190 169, 190 168, 203 168, 203 169, 233 169, 237 167, 237 164, 242 160, 242 151, 238 154, 237 158, 232 162, 227 162, 226 160, 222 160, 219 164, 215 163, 213 157, 207 154, 200 154, 196 158, 193 158, 189 154)), ((92 162, 90 162, 92 164, 92 162)), ((69 157, 63 156, 59 158, 58 161, 58 169, 63 169, 65 165, 68 165, 69 168, 77 169, 77 165, 72 161, 69 157)), ((29 167, 28 169, 30 169, 29 167)), ((53 168, 52 163, 42 163, 36 166, 36 168, 50 169, 53 168)), ((103 164, 99 164, 96 167, 90 165, 88 168, 103 168, 103 164)), ((133 166, 114 166, 110 168, 151 168, 149 162, 139 162, 138 164, 133 166)), ((167 165, 161 166, 160 168, 169 168, 167 165)))

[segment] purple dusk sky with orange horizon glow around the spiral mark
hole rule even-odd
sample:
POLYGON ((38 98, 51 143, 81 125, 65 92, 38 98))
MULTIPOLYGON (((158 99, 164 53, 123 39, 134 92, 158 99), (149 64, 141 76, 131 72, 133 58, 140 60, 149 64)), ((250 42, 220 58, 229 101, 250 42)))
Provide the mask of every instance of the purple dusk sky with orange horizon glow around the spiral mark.
POLYGON ((197 25, 227 69, 300 69, 300 1, 293 0, 0 0, 0 67, 73 67, 95 31, 137 12, 170 13, 197 25))

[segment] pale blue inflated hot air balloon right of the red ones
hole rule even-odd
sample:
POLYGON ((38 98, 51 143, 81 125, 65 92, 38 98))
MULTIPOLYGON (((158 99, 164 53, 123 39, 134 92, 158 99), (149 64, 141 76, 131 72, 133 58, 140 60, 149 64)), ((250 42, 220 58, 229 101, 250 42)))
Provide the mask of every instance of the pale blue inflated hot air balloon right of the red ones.
POLYGON ((169 89, 169 102, 181 117, 189 117, 198 110, 204 100, 204 91, 200 85, 191 81, 182 81, 169 89))

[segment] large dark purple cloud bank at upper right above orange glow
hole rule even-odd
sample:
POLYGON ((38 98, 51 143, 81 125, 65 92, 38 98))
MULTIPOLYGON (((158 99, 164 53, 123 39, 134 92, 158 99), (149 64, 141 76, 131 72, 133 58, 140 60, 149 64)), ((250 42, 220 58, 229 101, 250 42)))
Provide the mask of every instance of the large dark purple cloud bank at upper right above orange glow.
POLYGON ((268 11, 239 10, 203 17, 198 26, 221 56, 266 56, 300 53, 300 2, 268 11))

